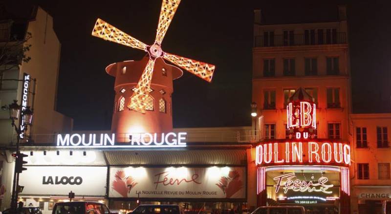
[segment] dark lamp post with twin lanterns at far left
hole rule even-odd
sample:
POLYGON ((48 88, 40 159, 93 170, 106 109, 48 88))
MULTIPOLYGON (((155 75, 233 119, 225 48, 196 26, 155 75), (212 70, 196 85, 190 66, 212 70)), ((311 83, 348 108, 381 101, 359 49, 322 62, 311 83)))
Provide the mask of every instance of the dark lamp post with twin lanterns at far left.
MULTIPOLYGON (((19 142, 21 138, 23 138, 25 131, 27 130, 26 125, 31 125, 32 119, 33 119, 33 111, 30 109, 30 107, 22 107, 18 105, 18 101, 14 100, 14 102, 10 105, 8 105, 9 109, 9 117, 12 120, 12 127, 15 128, 15 131, 17 133, 17 141, 16 141, 16 158, 20 158, 19 156, 22 156, 19 151, 19 142), (21 117, 22 114, 22 117, 21 117), (15 121, 19 119, 19 126, 15 124, 15 121)), ((14 170, 14 180, 12 185, 12 197, 11 197, 11 211, 12 213, 17 213, 17 203, 18 203, 18 191, 19 191, 19 172, 18 172, 18 165, 15 164, 15 170, 14 170)))

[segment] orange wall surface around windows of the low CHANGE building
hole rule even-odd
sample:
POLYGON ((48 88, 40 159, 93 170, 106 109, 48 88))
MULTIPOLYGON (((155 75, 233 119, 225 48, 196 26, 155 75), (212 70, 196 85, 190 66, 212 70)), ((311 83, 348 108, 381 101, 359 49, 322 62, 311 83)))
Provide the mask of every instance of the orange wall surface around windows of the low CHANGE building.
POLYGON ((388 144, 390 146, 389 131, 391 128, 391 113, 378 114, 350 114, 351 120, 351 147, 352 159, 354 162, 350 167, 351 176, 351 206, 352 211, 358 211, 359 204, 365 204, 366 200, 389 200, 391 193, 390 171, 388 179, 379 178, 379 163, 391 164, 391 148, 377 147, 377 127, 386 127, 388 130, 388 144), (357 130, 356 128, 367 129, 367 147, 357 147, 357 130), (358 164, 369 164, 369 178, 359 179, 358 164), (362 195, 370 194, 370 195, 362 195), (372 195, 373 194, 373 195, 372 195))

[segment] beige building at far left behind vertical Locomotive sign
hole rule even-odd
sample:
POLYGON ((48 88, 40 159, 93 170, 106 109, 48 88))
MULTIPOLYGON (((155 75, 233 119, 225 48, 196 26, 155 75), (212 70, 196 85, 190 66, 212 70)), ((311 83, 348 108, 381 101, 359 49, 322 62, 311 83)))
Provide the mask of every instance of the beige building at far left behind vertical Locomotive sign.
MULTIPOLYGON (((27 106, 34 111, 33 125, 27 129, 24 139, 29 136, 47 133, 61 133, 72 129, 72 119, 56 111, 57 80, 59 74, 61 44, 53 30, 53 19, 40 7, 33 7, 25 14, 13 15, 7 8, 1 6, 0 44, 15 45, 23 41, 26 34, 32 37, 27 41, 31 48, 26 52, 31 60, 18 65, 17 61, 3 64, 0 71, 0 106, 8 106, 13 100, 21 102, 23 73, 31 77, 27 106)), ((20 11, 18 11, 20 12, 20 11)), ((22 48, 22 43, 17 48, 22 48)), ((8 110, 0 110, 0 147, 15 146, 16 132, 11 127, 8 110)), ((23 140, 23 139, 22 139, 23 140)), ((22 143, 25 143, 23 141, 22 143)), ((33 143, 30 141, 30 144, 33 143)), ((1 185, 3 200, 1 209, 9 206, 11 178, 14 164, 10 160, 11 150, 1 149, 0 157, 1 185)))

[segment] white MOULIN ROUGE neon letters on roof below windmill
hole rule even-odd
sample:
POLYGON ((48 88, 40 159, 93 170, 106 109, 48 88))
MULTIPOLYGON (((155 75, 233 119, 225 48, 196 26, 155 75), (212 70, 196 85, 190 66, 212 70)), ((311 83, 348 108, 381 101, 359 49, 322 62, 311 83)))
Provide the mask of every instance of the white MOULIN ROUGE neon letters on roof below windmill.
POLYGON ((115 134, 58 134, 57 147, 62 148, 164 148, 186 147, 186 132, 130 133, 128 142, 116 142, 115 134))

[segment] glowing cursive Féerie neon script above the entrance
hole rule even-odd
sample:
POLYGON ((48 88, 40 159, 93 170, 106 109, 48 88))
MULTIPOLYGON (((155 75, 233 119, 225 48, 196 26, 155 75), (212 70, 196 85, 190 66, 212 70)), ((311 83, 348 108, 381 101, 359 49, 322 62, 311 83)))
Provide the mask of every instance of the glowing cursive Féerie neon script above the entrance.
POLYGON ((274 185, 276 188, 275 192, 278 193, 280 188, 284 190, 284 193, 287 193, 288 190, 292 190, 294 192, 322 192, 326 194, 331 194, 332 191, 327 191, 328 188, 334 187, 332 184, 326 184, 328 181, 328 178, 326 177, 320 177, 318 179, 317 183, 314 183, 312 181, 302 181, 300 179, 292 180, 292 178, 295 178, 296 175, 294 172, 283 174, 280 176, 277 176, 273 178, 273 180, 277 180, 277 184, 274 185), (282 179, 286 179, 284 183, 282 183, 282 179))

